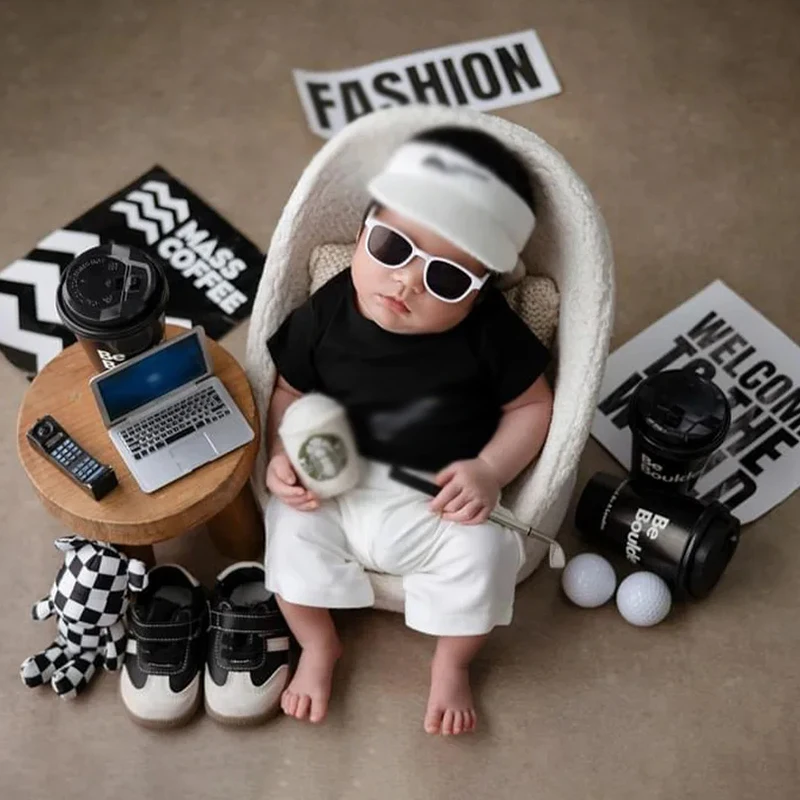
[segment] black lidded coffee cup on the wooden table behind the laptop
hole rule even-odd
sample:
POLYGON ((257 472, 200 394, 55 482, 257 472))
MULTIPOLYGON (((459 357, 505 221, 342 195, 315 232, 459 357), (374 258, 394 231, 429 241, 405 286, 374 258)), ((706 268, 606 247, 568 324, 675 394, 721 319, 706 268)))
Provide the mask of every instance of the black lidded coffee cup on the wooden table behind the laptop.
POLYGON ((61 276, 56 308, 98 370, 112 369, 164 337, 169 284, 164 267, 135 247, 81 253, 61 276))

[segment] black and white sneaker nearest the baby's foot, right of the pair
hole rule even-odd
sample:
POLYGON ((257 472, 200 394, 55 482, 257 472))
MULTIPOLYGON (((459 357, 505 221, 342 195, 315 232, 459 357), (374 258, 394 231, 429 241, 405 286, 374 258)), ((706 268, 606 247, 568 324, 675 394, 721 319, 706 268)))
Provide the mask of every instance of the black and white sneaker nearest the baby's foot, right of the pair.
POLYGON ((277 713, 289 678, 289 637, 264 585, 264 567, 243 561, 223 570, 211 598, 208 714, 229 725, 249 725, 277 713))

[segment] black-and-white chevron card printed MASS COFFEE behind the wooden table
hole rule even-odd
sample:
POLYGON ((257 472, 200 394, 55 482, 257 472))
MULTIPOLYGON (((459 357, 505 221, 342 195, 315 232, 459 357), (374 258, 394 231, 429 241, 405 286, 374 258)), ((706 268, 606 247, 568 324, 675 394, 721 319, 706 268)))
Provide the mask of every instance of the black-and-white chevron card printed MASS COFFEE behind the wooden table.
POLYGON ((167 270, 167 322, 213 339, 250 315, 264 253, 162 167, 148 170, 0 270, 0 350, 35 375, 74 337, 56 312, 64 268, 84 250, 140 247, 167 270))

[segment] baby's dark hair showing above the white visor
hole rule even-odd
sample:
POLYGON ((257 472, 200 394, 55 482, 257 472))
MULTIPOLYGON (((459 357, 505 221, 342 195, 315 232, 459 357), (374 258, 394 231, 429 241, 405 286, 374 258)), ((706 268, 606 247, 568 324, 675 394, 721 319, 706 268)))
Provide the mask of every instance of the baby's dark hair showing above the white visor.
POLYGON ((477 128, 445 125, 422 131, 412 141, 440 144, 463 153, 503 181, 536 213, 531 179, 525 164, 494 136, 477 128))

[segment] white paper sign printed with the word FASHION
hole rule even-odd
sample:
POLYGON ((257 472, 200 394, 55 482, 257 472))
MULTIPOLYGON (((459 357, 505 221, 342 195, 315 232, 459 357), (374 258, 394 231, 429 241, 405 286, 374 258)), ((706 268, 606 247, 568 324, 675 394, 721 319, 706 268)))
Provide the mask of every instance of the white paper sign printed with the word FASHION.
POLYGON ((412 103, 489 111, 561 91, 535 31, 422 50, 338 72, 294 70, 311 130, 329 138, 378 109, 412 103))

